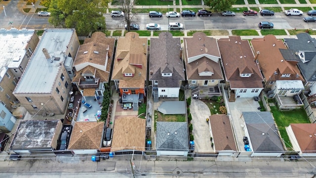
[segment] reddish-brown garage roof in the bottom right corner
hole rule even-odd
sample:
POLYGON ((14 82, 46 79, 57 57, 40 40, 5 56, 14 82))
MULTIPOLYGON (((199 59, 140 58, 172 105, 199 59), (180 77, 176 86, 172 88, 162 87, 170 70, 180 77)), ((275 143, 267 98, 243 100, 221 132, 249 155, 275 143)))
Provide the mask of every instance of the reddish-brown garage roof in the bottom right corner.
POLYGON ((302 152, 315 153, 316 124, 290 124, 290 126, 302 152))

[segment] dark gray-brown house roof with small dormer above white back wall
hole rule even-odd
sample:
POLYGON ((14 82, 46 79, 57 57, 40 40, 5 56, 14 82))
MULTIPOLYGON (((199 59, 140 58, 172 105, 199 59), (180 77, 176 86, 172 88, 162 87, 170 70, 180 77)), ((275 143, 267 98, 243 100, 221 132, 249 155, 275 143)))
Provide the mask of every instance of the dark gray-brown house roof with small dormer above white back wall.
POLYGON ((153 74, 149 80, 157 80, 158 87, 179 87, 179 81, 185 80, 180 48, 180 38, 173 38, 169 32, 151 39, 150 70, 153 74), (161 73, 172 73, 172 76, 163 77, 161 73))

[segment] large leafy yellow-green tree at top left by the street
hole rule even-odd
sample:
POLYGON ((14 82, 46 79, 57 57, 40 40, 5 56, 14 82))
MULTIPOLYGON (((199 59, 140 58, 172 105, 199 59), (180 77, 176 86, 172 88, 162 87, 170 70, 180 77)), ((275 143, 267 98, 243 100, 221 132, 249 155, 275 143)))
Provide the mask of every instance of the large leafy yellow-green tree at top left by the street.
POLYGON ((51 0, 48 22, 55 27, 75 28, 78 35, 105 28, 102 8, 109 0, 51 0))

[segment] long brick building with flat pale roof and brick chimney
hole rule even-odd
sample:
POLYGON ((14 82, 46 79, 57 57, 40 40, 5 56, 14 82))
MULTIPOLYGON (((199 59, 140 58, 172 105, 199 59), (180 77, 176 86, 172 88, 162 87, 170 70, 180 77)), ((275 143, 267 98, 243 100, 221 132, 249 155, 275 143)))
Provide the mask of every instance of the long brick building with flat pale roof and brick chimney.
POLYGON ((75 29, 46 29, 13 91, 30 114, 64 114, 71 78, 64 66, 79 48, 75 29))

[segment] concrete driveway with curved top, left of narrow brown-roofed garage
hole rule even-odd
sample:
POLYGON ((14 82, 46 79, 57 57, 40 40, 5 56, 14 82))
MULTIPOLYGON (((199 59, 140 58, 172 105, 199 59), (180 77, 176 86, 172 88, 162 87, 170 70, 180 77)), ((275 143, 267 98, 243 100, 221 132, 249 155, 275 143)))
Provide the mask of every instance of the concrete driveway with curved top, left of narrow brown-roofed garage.
POLYGON ((196 153, 209 153, 213 152, 210 141, 210 128, 209 123, 206 123, 206 118, 209 118, 211 112, 207 105, 198 100, 191 100, 190 113, 192 115, 192 125, 195 142, 196 153))

